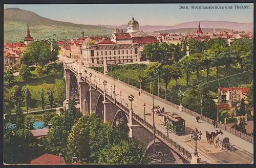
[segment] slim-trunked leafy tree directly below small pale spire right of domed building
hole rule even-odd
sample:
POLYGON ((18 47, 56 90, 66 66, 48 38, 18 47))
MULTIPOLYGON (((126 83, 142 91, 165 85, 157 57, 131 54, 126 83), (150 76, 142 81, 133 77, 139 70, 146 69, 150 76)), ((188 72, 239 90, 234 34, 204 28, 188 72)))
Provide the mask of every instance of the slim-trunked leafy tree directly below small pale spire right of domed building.
POLYGON ((188 82, 190 79, 190 73, 193 72, 193 61, 191 57, 185 56, 180 61, 179 64, 181 65, 181 68, 186 73, 186 86, 188 87, 188 82))

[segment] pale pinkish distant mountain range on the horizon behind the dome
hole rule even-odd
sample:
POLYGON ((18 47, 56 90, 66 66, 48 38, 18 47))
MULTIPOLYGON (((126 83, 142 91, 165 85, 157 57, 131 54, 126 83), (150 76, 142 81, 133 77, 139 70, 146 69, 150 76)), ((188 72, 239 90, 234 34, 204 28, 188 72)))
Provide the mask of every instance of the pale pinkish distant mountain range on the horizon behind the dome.
MULTIPOLYGON (((183 29, 183 28, 191 28, 198 27, 198 23, 200 22, 201 28, 209 28, 209 29, 229 29, 236 31, 253 31, 253 22, 251 23, 238 23, 238 22, 229 22, 229 21, 193 21, 177 24, 174 26, 164 26, 164 25, 141 25, 140 30, 143 32, 155 32, 155 31, 164 31, 164 30, 175 30, 175 29, 183 29)), ((117 27, 121 29, 121 27, 126 28, 127 25, 123 24, 120 26, 113 25, 98 25, 102 27, 108 27, 110 29, 114 29, 117 27)))

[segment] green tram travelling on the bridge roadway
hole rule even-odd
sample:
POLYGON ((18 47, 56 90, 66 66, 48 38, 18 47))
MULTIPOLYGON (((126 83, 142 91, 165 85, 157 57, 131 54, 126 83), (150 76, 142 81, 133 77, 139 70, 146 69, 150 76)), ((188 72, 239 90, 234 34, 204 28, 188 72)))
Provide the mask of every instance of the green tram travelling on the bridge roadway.
POLYGON ((174 132, 175 134, 182 134, 186 132, 185 120, 178 114, 164 114, 163 116, 164 125, 168 130, 174 132))

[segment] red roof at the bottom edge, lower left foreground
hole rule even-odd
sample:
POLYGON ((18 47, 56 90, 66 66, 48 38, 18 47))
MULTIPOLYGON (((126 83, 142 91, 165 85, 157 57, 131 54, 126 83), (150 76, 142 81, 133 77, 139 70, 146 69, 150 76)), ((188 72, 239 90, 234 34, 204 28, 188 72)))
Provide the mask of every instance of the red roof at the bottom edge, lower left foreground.
POLYGON ((65 159, 61 157, 61 162, 60 162, 60 157, 57 155, 49 154, 46 153, 44 155, 39 156, 38 158, 31 160, 30 164, 66 164, 65 159))

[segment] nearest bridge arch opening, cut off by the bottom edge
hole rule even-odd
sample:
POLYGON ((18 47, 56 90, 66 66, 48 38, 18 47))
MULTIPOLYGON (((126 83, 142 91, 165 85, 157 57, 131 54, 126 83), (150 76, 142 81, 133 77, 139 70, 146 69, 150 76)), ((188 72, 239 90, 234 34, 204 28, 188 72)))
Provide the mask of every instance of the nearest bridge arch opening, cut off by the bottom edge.
POLYGON ((174 156, 173 151, 158 139, 155 139, 155 146, 154 140, 147 145, 144 160, 146 164, 175 164, 180 162, 174 156))

